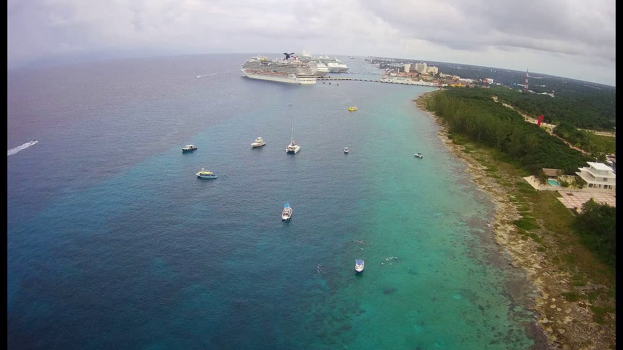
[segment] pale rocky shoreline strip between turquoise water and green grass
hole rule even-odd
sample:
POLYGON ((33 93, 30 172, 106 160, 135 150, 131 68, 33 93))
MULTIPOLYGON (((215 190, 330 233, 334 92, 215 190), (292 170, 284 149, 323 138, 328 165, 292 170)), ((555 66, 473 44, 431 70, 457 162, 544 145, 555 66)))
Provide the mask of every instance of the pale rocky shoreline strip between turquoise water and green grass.
MULTIPOLYGON (((427 109, 426 98, 430 93, 424 93, 414 100, 417 108, 434 118, 440 126, 437 136, 454 156, 467 164, 472 181, 489 194, 495 204, 495 218, 490 222, 490 228, 496 244, 505 248, 511 257, 510 265, 523 269, 527 280, 540 293, 533 299, 531 307, 539 315, 531 327, 533 336, 541 339, 536 343, 549 343, 547 348, 550 349, 607 349, 614 336, 612 330, 593 321, 588 301, 573 303, 564 300, 561 293, 573 290, 571 276, 549 262, 546 253, 539 252, 533 240, 522 239, 522 234, 513 224, 513 220, 520 219, 521 215, 516 204, 511 201, 508 187, 489 176, 485 165, 471 153, 465 153, 464 146, 453 143, 448 137, 449 131, 441 118, 427 109), (545 337, 548 341, 543 339, 545 337)), ((518 180, 511 178, 510 174, 500 175, 514 180, 513 183, 518 180)))

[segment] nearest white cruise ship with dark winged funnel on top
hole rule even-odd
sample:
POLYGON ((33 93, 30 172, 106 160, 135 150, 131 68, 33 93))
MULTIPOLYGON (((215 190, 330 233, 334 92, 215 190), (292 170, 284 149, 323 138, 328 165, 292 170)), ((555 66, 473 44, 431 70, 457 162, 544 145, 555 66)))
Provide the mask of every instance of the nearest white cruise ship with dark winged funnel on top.
POLYGON ((316 83, 314 69, 305 62, 290 60, 285 54, 283 60, 270 60, 266 56, 252 57, 240 66, 245 77, 272 80, 273 82, 311 85, 316 83))

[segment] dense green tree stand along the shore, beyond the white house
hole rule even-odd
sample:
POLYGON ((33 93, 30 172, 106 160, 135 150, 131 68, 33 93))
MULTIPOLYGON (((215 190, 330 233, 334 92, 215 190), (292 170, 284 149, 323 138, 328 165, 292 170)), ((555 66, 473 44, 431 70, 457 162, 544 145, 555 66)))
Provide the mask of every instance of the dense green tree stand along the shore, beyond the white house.
POLYGON ((490 98, 490 89, 450 88, 434 93, 427 108, 442 118, 450 133, 460 133, 507 154, 539 176, 542 168, 573 174, 588 158, 538 126, 526 123, 515 110, 490 98))

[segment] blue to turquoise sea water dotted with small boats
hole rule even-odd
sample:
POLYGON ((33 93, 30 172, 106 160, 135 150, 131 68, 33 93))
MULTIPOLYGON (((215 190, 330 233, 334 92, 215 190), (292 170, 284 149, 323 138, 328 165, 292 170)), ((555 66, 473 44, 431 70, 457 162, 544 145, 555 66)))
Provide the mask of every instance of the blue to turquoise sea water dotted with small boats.
POLYGON ((8 72, 9 349, 545 347, 488 197, 413 106, 432 88, 245 59, 8 72))

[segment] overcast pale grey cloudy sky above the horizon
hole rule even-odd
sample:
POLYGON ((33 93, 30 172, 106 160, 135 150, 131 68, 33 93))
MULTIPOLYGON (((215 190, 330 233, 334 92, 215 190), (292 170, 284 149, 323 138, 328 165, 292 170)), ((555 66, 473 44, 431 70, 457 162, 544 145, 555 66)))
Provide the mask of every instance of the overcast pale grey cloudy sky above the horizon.
POLYGON ((614 0, 8 0, 7 69, 59 57, 301 52, 616 85, 614 0))

